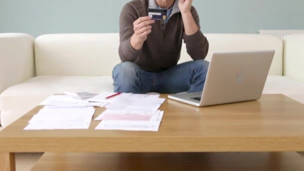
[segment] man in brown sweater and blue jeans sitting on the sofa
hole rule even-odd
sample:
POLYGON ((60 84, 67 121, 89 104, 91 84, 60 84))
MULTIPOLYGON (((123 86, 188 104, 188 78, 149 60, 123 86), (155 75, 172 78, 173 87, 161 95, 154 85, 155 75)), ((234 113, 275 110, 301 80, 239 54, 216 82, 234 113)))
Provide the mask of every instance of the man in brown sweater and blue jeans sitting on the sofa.
POLYGON ((192 0, 132 0, 120 14, 119 56, 113 69, 115 92, 202 91, 208 41, 192 0), (152 20, 148 8, 167 9, 167 20, 152 20), (178 64, 182 39, 194 61, 178 64))

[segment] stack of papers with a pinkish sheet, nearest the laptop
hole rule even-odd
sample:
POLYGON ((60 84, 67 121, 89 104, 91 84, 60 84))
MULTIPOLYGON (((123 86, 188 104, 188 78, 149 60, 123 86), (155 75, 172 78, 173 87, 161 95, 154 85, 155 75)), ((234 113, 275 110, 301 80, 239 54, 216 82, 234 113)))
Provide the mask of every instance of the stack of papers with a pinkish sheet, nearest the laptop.
POLYGON ((164 100, 159 95, 120 94, 95 118, 102 120, 96 129, 157 131, 163 116, 158 108, 164 100))

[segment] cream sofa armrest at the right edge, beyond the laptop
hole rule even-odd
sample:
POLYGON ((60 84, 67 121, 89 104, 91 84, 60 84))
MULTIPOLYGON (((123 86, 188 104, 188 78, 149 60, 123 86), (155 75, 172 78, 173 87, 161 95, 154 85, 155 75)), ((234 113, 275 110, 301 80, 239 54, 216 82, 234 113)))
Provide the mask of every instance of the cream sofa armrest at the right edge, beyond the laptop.
POLYGON ((285 76, 304 81, 304 34, 293 34, 283 38, 285 76))

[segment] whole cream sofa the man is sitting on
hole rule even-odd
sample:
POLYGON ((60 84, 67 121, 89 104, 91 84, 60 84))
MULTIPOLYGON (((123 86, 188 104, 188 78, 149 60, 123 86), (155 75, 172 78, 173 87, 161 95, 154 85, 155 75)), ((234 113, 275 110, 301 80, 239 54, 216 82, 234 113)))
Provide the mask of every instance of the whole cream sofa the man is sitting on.
MULTIPOLYGON (((206 37, 210 44, 207 60, 214 51, 275 49, 264 93, 282 93, 304 103, 304 35, 291 35, 284 40, 259 34, 206 37)), ((27 34, 1 33, 2 126, 54 93, 112 91, 111 71, 120 62, 118 45, 118 33, 49 34, 36 39, 27 34)), ((191 59, 183 45, 180 62, 187 60, 191 59)))

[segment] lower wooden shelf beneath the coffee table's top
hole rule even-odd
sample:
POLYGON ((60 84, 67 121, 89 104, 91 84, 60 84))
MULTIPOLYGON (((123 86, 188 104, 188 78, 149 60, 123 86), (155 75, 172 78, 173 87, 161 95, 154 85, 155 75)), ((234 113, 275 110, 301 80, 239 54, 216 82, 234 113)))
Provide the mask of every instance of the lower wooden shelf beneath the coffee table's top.
POLYGON ((296 152, 44 153, 32 171, 208 170, 302 171, 296 152))

